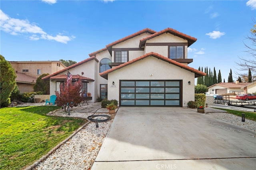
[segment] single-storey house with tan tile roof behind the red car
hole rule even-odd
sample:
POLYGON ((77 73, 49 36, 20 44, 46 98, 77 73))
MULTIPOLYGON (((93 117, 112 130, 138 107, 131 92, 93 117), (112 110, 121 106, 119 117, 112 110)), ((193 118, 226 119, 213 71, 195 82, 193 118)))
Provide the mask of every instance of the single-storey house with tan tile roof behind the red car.
POLYGON ((208 87, 209 94, 227 94, 227 93, 236 93, 237 95, 244 93, 244 87, 249 83, 218 83, 208 87))

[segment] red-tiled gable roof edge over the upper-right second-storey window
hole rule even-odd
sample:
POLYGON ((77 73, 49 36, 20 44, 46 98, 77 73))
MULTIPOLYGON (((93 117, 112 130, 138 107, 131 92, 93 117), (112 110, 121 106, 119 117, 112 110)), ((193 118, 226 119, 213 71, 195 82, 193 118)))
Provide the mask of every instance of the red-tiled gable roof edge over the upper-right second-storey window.
MULTIPOLYGON (((140 45, 139 45, 139 47, 142 46, 142 42, 146 42, 146 40, 149 40, 149 39, 151 39, 151 38, 154 38, 154 37, 159 36, 159 35, 161 35, 161 34, 164 34, 164 33, 166 33, 166 32, 170 32, 170 34, 173 34, 173 35, 178 34, 178 35, 180 35, 180 36, 182 36, 182 37, 184 37, 184 38, 187 38, 187 39, 192 40, 193 43, 196 42, 196 40, 197 40, 197 39, 194 38, 194 37, 188 36, 188 35, 186 35, 186 34, 184 34, 184 33, 182 33, 182 32, 178 32, 177 30, 174 30, 174 29, 172 29, 172 28, 166 28, 166 29, 164 29, 164 30, 162 30, 162 31, 160 31, 160 32, 156 32, 155 34, 152 34, 152 35, 150 35, 150 36, 147 36, 147 37, 145 37, 145 38, 142 38, 142 39, 140 40, 140 45)), ((192 44, 192 43, 191 43, 191 44, 192 44)))

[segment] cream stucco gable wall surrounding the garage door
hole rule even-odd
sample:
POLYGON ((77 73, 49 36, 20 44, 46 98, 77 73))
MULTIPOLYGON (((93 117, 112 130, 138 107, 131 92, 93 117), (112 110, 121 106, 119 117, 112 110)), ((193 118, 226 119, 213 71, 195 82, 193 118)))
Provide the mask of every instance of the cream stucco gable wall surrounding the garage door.
POLYGON ((109 73, 108 82, 116 82, 116 87, 110 87, 112 84, 108 83, 108 99, 119 101, 119 80, 183 80, 183 107, 187 107, 188 101, 194 101, 194 73, 156 57, 147 57, 109 73))

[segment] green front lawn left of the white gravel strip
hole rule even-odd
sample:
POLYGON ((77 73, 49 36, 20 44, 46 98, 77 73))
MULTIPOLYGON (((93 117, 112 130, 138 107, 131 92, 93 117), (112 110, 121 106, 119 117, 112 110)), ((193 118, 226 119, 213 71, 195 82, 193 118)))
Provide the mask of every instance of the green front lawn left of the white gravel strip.
POLYGON ((46 115, 56 106, 0 109, 0 169, 29 166, 81 127, 86 120, 46 115))

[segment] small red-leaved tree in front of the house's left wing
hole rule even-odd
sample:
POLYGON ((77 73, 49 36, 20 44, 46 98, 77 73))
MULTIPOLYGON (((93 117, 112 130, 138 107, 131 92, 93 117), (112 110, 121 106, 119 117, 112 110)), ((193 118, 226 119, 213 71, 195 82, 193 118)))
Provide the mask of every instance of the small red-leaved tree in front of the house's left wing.
POLYGON ((64 107, 64 111, 66 112, 68 108, 72 108, 81 101, 83 101, 83 93, 82 93, 82 79, 78 79, 78 81, 72 83, 70 81, 69 84, 64 82, 64 84, 60 84, 60 91, 56 91, 55 95, 57 96, 56 104, 57 106, 64 107))

